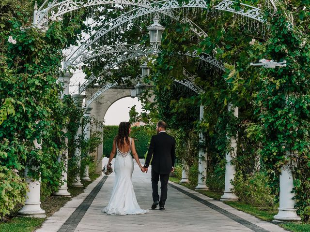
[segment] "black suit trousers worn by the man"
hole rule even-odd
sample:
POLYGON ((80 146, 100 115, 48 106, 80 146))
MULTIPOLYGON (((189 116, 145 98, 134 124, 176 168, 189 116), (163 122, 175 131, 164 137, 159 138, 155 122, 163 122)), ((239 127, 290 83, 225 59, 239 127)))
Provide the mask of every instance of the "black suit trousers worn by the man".
POLYGON ((153 201, 159 201, 159 207, 164 207, 166 200, 167 200, 167 192, 168 192, 168 180, 169 180, 169 174, 159 174, 156 173, 152 169, 152 196, 153 201), (160 184, 161 184, 161 191, 160 191, 160 199, 158 195, 158 181, 160 177, 160 184))

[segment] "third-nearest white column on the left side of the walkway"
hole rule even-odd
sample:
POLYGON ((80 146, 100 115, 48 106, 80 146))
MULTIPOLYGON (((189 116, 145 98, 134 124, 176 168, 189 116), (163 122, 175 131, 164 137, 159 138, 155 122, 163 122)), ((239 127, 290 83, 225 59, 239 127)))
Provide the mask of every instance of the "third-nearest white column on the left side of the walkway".
MULTIPOLYGON (((86 97, 83 94, 74 94, 72 95, 72 97, 75 99, 76 104, 78 106, 78 108, 82 108, 82 104, 83 104, 83 99, 86 97)), ((80 119, 80 126, 78 127, 78 131, 77 134, 75 136, 75 140, 77 140, 80 136, 82 136, 82 118, 80 119)), ((80 180, 80 166, 81 166, 81 150, 80 148, 76 147, 76 150, 74 152, 74 156, 78 159, 78 173, 77 176, 75 177, 75 182, 72 184, 72 186, 75 187, 83 187, 83 184, 81 183, 80 180)))

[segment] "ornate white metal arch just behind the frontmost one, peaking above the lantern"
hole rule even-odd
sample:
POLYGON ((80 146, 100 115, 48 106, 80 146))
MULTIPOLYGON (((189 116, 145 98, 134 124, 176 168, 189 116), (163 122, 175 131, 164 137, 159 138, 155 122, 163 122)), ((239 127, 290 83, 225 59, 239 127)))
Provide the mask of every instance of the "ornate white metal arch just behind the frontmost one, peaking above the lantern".
MULTIPOLYGON (((190 29, 196 33, 198 36, 205 36, 207 37, 207 33, 204 32, 200 27, 198 27, 194 22, 192 22, 190 19, 184 17, 181 20, 179 20, 178 17, 174 16, 171 12, 165 10, 165 11, 158 11, 161 14, 165 14, 170 16, 171 18, 183 22, 183 23, 188 23, 191 27, 190 29)), ((71 65, 74 64, 75 60, 78 59, 81 54, 87 49, 89 48, 94 42, 96 42, 98 39, 100 39, 101 37, 103 37, 105 34, 107 34, 109 31, 123 25, 124 23, 131 21, 135 18, 138 18, 142 15, 145 14, 151 14, 154 13, 153 10, 147 9, 147 8, 143 8, 140 7, 138 9, 133 9, 131 11, 129 11, 128 13, 122 14, 121 16, 117 17, 116 19, 114 19, 113 21, 105 24, 104 26, 102 26, 100 29, 98 29, 90 38, 88 38, 85 42, 83 42, 77 50, 75 50, 70 57, 65 61, 64 63, 64 69, 67 69, 68 67, 70 67, 71 65)))

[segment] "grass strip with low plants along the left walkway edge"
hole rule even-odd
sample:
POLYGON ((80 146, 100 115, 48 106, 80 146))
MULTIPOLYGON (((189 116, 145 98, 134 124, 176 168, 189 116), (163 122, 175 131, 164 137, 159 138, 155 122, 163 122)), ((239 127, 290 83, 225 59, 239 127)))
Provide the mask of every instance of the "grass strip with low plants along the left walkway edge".
MULTIPOLYGON (((81 181, 83 188, 68 187, 68 192, 72 197, 84 192, 84 189, 99 177, 98 174, 90 175, 92 181, 81 181)), ((70 201, 72 197, 47 197, 41 203, 41 208, 45 210, 47 217, 52 216, 65 203, 70 201)), ((33 232, 41 227, 46 218, 17 217, 17 210, 12 213, 13 218, 7 222, 0 222, 0 232, 33 232)))

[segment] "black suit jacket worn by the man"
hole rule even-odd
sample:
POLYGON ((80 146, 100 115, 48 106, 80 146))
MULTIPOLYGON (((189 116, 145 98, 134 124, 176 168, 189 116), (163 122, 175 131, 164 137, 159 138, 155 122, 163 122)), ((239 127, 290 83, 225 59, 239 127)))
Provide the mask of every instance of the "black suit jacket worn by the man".
POLYGON ((153 135, 144 167, 149 167, 152 155, 152 170, 159 174, 169 174, 174 167, 175 139, 166 132, 153 135))

